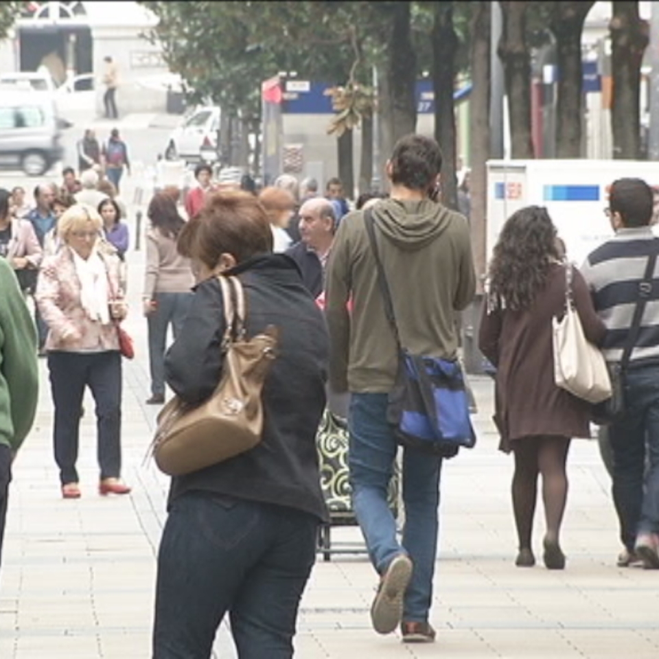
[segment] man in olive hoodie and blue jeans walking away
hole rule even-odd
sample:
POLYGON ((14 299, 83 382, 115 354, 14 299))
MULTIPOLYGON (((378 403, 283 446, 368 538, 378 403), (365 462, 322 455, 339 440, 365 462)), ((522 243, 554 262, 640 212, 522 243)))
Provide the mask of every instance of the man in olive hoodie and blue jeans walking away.
MULTIPOLYGON (((378 251, 389 281, 401 343, 413 354, 454 359, 455 312, 474 297, 476 277, 467 220, 430 198, 441 152, 432 139, 398 141, 387 174, 391 197, 373 207, 378 251)), ((327 265, 330 384, 349 391, 349 470, 353 505, 371 561, 381 575, 371 618, 380 634, 401 623, 406 642, 431 642, 428 622, 439 531, 441 458, 404 449, 402 544, 387 505, 397 445, 386 421, 398 367, 384 314, 364 213, 343 218, 327 265), (352 299, 352 312, 346 303, 352 299)))

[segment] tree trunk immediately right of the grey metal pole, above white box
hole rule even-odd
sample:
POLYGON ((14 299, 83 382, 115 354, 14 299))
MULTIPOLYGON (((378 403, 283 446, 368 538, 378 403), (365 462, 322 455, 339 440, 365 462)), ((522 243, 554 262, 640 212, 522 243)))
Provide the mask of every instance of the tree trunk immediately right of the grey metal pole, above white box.
POLYGON ((529 2, 501 1, 503 29, 498 54, 508 96, 511 156, 533 158, 531 139, 531 62, 526 37, 529 2))

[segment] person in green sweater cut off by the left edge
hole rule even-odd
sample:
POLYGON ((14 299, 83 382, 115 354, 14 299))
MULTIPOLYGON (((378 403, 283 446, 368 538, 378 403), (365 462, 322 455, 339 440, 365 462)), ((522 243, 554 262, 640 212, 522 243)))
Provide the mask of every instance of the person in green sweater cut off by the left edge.
POLYGON ((36 329, 14 270, 0 259, 0 561, 12 461, 36 412, 36 348, 36 329))

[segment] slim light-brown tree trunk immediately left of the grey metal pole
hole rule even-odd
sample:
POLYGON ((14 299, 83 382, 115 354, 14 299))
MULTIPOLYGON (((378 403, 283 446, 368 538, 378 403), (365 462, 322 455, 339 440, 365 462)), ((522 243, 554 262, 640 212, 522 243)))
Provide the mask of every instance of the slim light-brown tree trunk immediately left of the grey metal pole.
POLYGON ((489 157, 489 39, 492 3, 477 2, 472 14, 472 93, 470 95, 470 225, 472 251, 476 268, 477 292, 483 292, 483 278, 487 270, 485 240, 487 213, 487 168, 489 157))

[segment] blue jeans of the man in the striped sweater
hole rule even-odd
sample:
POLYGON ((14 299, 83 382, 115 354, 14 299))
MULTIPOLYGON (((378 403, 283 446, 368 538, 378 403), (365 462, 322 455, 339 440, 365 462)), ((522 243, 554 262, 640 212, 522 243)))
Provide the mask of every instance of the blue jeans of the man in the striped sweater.
POLYGON ((625 400, 627 413, 611 426, 610 440, 613 500, 631 551, 638 533, 659 533, 659 365, 627 371, 625 400))

